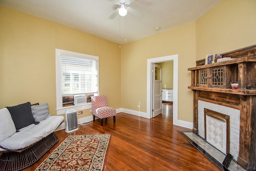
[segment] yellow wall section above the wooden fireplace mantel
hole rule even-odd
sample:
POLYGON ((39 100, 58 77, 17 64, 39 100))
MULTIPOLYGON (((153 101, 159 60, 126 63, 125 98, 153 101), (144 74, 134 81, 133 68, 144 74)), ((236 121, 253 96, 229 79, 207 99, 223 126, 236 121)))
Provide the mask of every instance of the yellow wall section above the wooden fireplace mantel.
POLYGON ((196 60, 256 44, 256 0, 222 0, 196 21, 196 60))

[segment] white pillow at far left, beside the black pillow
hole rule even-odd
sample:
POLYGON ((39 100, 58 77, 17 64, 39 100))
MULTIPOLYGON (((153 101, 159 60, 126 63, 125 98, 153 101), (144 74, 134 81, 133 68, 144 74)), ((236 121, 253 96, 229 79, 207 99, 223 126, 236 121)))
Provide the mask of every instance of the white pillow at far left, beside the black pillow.
POLYGON ((16 132, 10 112, 6 107, 0 109, 0 142, 16 132))

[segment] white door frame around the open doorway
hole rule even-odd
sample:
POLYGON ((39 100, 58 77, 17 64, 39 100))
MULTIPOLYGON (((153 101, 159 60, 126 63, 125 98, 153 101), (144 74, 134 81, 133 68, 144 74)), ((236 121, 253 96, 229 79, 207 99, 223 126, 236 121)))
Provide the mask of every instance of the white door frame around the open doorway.
POLYGON ((178 54, 147 60, 147 118, 152 118, 152 65, 158 62, 173 61, 173 124, 178 125, 178 54))

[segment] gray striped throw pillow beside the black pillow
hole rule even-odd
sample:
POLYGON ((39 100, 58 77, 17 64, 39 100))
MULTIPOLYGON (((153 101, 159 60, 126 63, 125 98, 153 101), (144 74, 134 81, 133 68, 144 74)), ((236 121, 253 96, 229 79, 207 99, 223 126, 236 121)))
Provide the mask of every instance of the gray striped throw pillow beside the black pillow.
POLYGON ((31 106, 31 110, 36 122, 43 121, 51 116, 48 110, 48 103, 31 106))

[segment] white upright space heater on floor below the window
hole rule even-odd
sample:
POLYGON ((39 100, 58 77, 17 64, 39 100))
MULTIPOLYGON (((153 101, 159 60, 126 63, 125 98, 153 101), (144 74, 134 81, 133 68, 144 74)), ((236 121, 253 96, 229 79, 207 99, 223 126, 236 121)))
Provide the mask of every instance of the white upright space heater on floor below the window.
POLYGON ((66 133, 78 130, 77 113, 75 109, 68 109, 65 111, 66 133))

